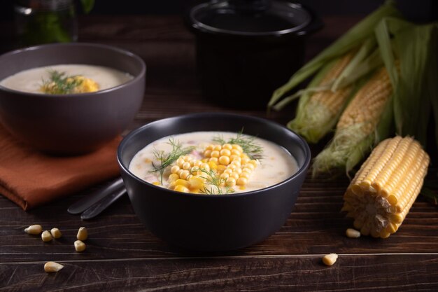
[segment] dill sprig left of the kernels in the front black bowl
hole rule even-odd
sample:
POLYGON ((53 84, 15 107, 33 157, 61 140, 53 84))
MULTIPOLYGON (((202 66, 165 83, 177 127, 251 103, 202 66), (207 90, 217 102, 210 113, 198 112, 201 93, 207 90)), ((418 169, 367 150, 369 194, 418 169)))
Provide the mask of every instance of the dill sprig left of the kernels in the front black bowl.
POLYGON ((159 165, 155 165, 154 162, 152 162, 153 170, 150 172, 159 172, 160 173, 160 183, 163 184, 163 174, 166 167, 174 163, 178 158, 180 158, 183 155, 186 155, 193 151, 195 149, 195 146, 190 147, 184 147, 181 144, 180 141, 175 141, 173 137, 169 139, 167 142, 170 146, 172 146, 172 149, 169 153, 164 153, 164 151, 154 148, 153 155, 155 156, 155 159, 158 160, 159 165))

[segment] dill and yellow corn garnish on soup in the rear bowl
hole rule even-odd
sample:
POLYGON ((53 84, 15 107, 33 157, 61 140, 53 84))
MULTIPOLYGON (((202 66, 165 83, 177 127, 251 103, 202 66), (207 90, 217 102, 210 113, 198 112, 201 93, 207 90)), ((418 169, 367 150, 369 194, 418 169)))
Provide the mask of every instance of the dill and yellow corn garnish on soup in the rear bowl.
POLYGON ((50 78, 43 80, 43 85, 41 85, 41 90, 45 93, 52 95, 73 93, 73 90, 83 82, 83 79, 77 78, 78 75, 67 76, 65 72, 57 70, 49 70, 48 72, 50 78))

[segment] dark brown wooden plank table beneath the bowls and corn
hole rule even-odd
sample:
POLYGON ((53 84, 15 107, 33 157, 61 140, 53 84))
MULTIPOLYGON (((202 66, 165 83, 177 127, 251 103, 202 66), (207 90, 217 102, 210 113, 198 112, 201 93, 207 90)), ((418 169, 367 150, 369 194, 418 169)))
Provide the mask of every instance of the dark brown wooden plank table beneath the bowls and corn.
MULTIPOLYGON (((357 20, 325 18, 325 29, 309 39, 307 57, 357 20)), ((10 37, 7 26, 1 32, 10 37)), ((146 60, 146 94, 129 130, 203 111, 266 117, 263 110, 240 111, 202 98, 195 41, 181 18, 87 15, 80 18, 79 35, 80 41, 119 46, 146 60)), ((291 115, 285 110, 269 119, 285 124, 291 115)), ((312 146, 313 155, 320 148, 312 146)), ((437 169, 430 169, 428 177, 437 181, 437 169)), ((295 210, 278 232, 259 244, 223 253, 191 253, 167 245, 140 223, 127 196, 90 221, 66 209, 92 189, 29 212, 0 196, 0 291, 436 291, 437 207, 419 197, 388 239, 348 238, 352 221, 340 212, 347 186, 347 178, 308 176, 295 210), (65 236, 50 243, 36 240, 23 231, 33 223, 56 226, 65 236), (68 239, 79 226, 89 234, 83 253, 76 253, 68 239), (339 256, 331 266, 322 261, 328 253, 339 256), (45 273, 48 261, 64 268, 45 273)))

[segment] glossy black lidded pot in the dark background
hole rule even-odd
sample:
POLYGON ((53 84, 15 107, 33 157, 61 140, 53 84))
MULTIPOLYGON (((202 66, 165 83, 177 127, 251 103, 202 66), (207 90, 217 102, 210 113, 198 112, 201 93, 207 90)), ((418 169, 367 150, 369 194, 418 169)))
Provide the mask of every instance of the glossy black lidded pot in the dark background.
POLYGON ((302 67, 306 37, 323 26, 309 8, 279 0, 210 1, 192 6, 185 22, 196 36, 202 94, 241 109, 267 106, 302 67))

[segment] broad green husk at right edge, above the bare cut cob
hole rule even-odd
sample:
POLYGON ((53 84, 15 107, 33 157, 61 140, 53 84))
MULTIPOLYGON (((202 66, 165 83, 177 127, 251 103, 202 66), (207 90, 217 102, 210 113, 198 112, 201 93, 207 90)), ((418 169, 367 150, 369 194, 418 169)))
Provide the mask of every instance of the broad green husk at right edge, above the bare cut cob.
POLYGON ((423 146, 427 143, 430 104, 436 109, 438 99, 437 27, 437 23, 414 25, 396 18, 385 18, 376 27, 383 62, 397 83, 393 109, 397 134, 415 137, 423 146), (394 66, 396 57, 400 74, 394 66))

